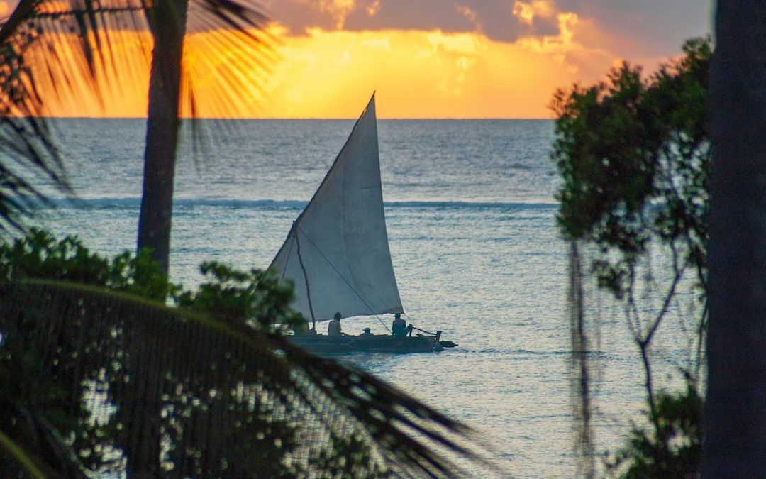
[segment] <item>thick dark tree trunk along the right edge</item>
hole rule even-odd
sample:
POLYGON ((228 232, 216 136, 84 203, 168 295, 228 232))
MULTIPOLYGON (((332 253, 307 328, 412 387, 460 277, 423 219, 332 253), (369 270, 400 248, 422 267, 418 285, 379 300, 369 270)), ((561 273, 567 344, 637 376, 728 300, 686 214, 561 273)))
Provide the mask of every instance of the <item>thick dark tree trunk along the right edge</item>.
POLYGON ((720 0, 702 477, 766 471, 766 3, 720 0))

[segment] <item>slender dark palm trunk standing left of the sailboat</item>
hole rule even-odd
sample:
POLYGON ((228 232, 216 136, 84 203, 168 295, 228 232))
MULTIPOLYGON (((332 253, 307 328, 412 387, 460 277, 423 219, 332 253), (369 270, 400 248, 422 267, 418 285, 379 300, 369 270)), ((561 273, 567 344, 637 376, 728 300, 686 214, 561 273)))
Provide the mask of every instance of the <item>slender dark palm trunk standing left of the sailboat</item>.
POLYGON ((178 96, 187 11, 188 0, 160 0, 147 14, 155 43, 149 79, 138 249, 152 248, 152 258, 163 264, 165 272, 170 257, 178 96))

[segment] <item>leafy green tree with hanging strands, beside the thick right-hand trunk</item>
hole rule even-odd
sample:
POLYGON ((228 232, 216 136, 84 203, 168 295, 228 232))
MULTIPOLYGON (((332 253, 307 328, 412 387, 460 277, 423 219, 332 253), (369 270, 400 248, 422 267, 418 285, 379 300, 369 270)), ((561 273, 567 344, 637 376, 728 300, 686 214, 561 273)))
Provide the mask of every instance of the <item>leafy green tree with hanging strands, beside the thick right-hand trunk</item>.
MULTIPOLYGON (((664 405, 671 396, 654 392, 650 349, 683 281, 694 284, 696 367, 701 363, 707 317, 711 57, 709 38, 692 39, 683 45, 683 57, 648 77, 640 67, 622 64, 607 74, 607 80, 559 90, 552 101, 558 116, 552 159, 562 179, 557 221, 571 242, 578 447, 587 457, 593 454, 588 351, 594 332, 588 327, 585 277, 593 277, 598 288, 623 305, 645 372, 653 434, 635 429, 636 453, 624 458, 636 464, 643 461, 639 451, 643 445, 651 445, 650 451, 657 454, 666 450, 664 405), (647 272, 658 252, 665 258, 666 271, 647 272), (642 306, 647 294, 659 297, 659 306, 642 306)), ((592 475, 592 466, 588 468, 592 475)))

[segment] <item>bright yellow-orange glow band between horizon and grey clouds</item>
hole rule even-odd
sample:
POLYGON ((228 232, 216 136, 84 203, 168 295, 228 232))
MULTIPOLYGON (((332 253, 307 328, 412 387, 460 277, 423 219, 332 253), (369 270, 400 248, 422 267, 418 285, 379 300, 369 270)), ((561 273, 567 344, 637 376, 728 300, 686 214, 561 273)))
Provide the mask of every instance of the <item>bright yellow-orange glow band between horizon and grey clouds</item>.
MULTIPOLYGON (((533 14, 548 15, 545 2, 538 3, 533 14)), ((342 10, 346 4, 326 5, 342 10)), ((280 41, 268 71, 238 73, 237 92, 224 97, 215 93, 226 84, 221 81, 221 65, 253 52, 212 51, 204 46, 205 34, 193 34, 187 39, 185 55, 190 67, 212 65, 192 76, 195 107, 203 116, 355 118, 359 105, 377 91, 381 118, 549 118, 547 105, 557 88, 595 81, 614 62, 607 51, 576 41, 581 29, 591 25, 578 21, 576 15, 554 18, 558 18, 558 34, 530 35, 512 43, 493 41, 480 32, 437 29, 313 28, 293 36, 273 25, 271 33, 280 41), (206 55, 214 60, 198 62, 206 55)), ((147 52, 151 51, 146 42, 150 44, 150 39, 139 42, 126 35, 126 44, 130 38, 135 45, 125 49, 133 52, 127 74, 116 74, 109 57, 104 60, 110 87, 102 92, 103 102, 78 87, 59 101, 48 102, 46 113, 146 116, 147 52)), ((183 112, 189 111, 187 104, 183 112)))

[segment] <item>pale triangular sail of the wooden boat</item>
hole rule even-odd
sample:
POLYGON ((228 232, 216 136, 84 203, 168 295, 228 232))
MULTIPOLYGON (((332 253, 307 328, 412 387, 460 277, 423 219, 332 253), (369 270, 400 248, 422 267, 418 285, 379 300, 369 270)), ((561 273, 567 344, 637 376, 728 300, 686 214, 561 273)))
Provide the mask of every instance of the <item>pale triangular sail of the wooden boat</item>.
POLYGON ((293 281, 293 309, 308 320, 403 312, 383 212, 375 94, 270 268, 293 281))

